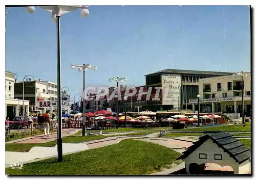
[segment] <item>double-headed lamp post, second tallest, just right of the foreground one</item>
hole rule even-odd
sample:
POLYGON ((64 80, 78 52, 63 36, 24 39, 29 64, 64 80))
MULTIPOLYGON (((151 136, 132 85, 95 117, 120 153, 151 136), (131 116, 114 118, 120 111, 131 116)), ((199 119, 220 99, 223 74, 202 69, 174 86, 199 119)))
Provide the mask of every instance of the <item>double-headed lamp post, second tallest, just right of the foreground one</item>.
POLYGON ((91 64, 83 64, 83 65, 71 65, 71 69, 75 69, 77 67, 78 71, 83 71, 83 83, 82 83, 82 136, 86 136, 86 121, 84 120, 84 114, 86 114, 86 95, 84 95, 85 87, 86 87, 86 70, 93 69, 97 70, 97 66, 92 66, 91 64))

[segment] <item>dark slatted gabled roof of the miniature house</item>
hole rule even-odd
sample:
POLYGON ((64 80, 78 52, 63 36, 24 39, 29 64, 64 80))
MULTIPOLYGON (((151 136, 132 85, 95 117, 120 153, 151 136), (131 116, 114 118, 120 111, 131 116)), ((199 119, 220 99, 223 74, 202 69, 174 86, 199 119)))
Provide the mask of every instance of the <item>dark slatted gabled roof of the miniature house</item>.
POLYGON ((190 153, 194 152, 208 139, 211 139, 212 142, 216 143, 218 147, 222 148, 224 152, 227 152, 230 157, 239 164, 251 157, 250 149, 245 147, 244 144, 238 139, 233 138, 232 135, 228 133, 214 133, 200 137, 199 140, 194 142, 194 145, 190 146, 186 151, 184 151, 177 160, 188 157, 190 153))

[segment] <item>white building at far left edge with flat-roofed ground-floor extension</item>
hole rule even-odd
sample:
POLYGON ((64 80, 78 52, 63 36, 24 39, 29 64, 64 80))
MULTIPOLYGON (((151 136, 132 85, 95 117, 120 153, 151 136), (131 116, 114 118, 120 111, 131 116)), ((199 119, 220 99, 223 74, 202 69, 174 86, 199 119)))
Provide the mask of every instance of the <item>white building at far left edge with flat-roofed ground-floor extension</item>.
MULTIPOLYGON (((5 71, 5 116, 13 119, 23 113, 23 100, 14 98, 15 73, 5 71)), ((24 100, 25 114, 29 114, 29 100, 24 100)))

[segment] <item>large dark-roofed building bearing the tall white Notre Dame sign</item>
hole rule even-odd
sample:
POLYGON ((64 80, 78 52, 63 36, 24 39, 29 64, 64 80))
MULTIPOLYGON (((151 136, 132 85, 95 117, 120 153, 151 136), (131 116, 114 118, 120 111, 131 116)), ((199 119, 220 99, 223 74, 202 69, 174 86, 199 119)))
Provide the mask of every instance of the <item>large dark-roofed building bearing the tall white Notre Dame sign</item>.
POLYGON ((158 72, 145 75, 146 89, 153 87, 152 98, 155 97, 154 87, 161 87, 160 100, 146 101, 146 109, 151 111, 165 111, 174 109, 191 109, 193 104, 189 99, 197 98, 200 79, 231 75, 231 72, 200 71, 200 70, 179 70, 164 69, 158 72), (168 89, 168 93, 167 93, 168 89), (168 100, 163 100, 166 93, 168 100))

